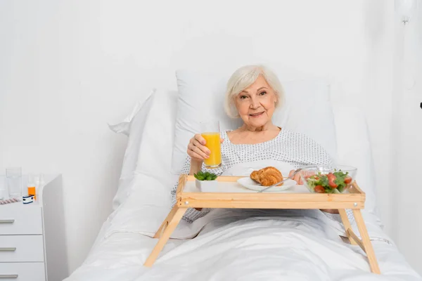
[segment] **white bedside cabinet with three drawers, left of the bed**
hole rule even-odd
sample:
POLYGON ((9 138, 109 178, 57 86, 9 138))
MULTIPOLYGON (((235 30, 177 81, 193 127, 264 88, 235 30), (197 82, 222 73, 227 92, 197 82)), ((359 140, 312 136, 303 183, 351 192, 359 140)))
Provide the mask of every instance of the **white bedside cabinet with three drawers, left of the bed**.
POLYGON ((62 178, 44 175, 44 179, 46 184, 39 188, 36 202, 0 205, 1 281, 60 281, 68 277, 62 178))

